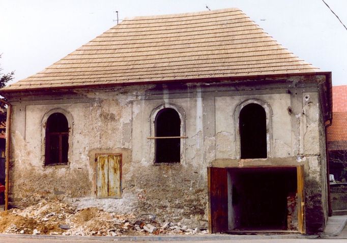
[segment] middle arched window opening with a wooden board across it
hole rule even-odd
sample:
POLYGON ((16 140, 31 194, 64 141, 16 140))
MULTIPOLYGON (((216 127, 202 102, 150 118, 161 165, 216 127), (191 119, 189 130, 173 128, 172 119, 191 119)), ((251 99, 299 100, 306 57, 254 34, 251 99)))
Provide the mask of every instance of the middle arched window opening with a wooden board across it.
POLYGON ((155 119, 155 163, 181 160, 181 119, 175 109, 165 108, 155 119))

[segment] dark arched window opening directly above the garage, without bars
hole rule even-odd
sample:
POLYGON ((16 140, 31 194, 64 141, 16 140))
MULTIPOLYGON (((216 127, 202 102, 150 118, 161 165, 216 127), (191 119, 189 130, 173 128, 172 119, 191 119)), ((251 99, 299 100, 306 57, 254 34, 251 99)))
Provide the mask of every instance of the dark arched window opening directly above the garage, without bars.
POLYGON ((263 106, 247 104, 240 112, 241 158, 266 158, 266 113, 263 106))

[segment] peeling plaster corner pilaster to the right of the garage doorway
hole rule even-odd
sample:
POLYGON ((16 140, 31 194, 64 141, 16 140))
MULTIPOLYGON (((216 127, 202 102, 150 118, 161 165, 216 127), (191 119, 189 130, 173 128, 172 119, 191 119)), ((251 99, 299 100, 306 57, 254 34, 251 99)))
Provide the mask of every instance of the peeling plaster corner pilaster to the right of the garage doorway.
POLYGON ((323 231, 328 219, 325 128, 318 93, 302 95, 306 229, 313 233, 323 231))

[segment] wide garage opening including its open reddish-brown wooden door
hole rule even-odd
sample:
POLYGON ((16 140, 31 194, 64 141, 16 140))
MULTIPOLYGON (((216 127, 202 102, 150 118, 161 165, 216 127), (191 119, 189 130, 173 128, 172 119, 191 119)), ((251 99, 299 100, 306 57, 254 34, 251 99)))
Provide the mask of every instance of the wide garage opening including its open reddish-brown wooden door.
POLYGON ((301 231, 298 172, 297 167, 210 168, 211 231, 301 231))

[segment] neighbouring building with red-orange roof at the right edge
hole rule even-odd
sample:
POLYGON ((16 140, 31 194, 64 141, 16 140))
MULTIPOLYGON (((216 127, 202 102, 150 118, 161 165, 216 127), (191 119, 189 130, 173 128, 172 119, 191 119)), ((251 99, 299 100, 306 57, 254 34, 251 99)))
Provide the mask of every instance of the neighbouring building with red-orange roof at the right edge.
POLYGON ((347 85, 333 86, 333 123, 327 130, 329 173, 347 180, 347 85))

